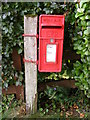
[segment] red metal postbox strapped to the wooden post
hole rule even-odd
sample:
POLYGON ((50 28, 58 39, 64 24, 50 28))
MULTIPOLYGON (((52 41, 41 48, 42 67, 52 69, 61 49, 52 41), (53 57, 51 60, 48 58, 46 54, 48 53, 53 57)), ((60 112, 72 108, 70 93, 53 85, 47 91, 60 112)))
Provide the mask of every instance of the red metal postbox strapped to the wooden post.
POLYGON ((64 15, 39 17, 39 71, 60 72, 62 68, 64 15))

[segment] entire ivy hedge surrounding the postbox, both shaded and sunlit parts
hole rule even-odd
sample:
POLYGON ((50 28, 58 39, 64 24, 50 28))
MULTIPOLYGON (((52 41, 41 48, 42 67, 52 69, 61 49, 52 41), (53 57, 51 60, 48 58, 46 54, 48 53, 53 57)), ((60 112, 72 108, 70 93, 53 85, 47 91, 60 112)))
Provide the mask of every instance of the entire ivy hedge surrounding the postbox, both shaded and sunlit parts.
POLYGON ((3 87, 10 84, 23 84, 24 71, 17 71, 13 66, 12 50, 18 48, 18 54, 23 55, 24 15, 40 14, 66 14, 64 50, 76 50, 81 55, 81 60, 66 61, 63 59, 61 73, 38 73, 38 81, 45 79, 75 78, 77 86, 90 97, 90 22, 89 5, 83 3, 60 2, 15 2, 2 3, 2 79, 3 87), (79 7, 80 6, 80 7, 79 7), (79 9, 80 8, 80 9, 79 9), (71 70, 73 70, 71 72, 71 70), (17 81, 15 80, 17 78, 17 81))

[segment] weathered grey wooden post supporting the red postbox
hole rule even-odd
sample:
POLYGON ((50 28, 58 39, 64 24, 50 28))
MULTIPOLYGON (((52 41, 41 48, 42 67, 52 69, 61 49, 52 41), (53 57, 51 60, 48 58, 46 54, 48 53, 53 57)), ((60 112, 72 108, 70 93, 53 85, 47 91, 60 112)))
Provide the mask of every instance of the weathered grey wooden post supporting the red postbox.
MULTIPOLYGON (((24 16, 24 34, 37 34, 37 16, 24 16)), ((37 61, 37 38, 24 37, 24 58, 37 61)), ((26 111, 37 112, 37 64, 25 62, 26 111)))

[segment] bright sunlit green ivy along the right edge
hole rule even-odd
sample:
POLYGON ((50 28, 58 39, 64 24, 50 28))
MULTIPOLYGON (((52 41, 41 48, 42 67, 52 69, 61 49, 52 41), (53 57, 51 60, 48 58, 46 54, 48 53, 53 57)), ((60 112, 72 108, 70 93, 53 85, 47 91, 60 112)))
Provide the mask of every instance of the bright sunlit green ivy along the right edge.
POLYGON ((72 70, 76 85, 90 98, 90 2, 76 4, 76 28, 74 31, 74 50, 81 60, 74 63, 72 70))

